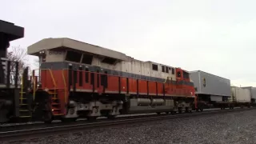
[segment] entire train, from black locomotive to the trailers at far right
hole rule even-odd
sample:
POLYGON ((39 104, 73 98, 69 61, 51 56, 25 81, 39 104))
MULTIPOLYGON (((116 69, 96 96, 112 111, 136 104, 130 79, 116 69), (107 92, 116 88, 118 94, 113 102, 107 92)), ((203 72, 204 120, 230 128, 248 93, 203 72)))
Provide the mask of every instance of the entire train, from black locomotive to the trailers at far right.
MULTIPOLYGON (((13 26, 14 30, 13 24, 2 23, 13 26)), ((9 32, 1 32, 6 42, 14 40, 7 38, 9 32)), ((15 38, 22 38, 22 34, 15 38)), ((206 73, 201 78, 202 73, 198 71, 142 62, 70 38, 46 38, 29 46, 27 53, 38 56, 40 68, 33 70, 30 78, 26 68, 21 84, 15 81, 11 85, 7 47, 1 46, 0 51, 3 59, 0 67, 6 66, 2 70, 6 73, 0 70, 3 79, 0 122, 52 122, 54 119, 66 122, 77 118, 114 118, 119 114, 190 113, 193 109, 223 109, 252 103, 248 101, 251 95, 242 97, 251 94, 251 88, 232 88, 231 93, 227 79, 216 81, 215 77, 207 78, 206 73)))

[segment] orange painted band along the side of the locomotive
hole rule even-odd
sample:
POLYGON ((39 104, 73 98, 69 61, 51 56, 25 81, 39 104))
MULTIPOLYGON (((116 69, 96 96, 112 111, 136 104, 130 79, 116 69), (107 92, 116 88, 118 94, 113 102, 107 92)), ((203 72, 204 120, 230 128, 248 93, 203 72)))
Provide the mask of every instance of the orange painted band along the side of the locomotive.
MULTIPOLYGON (((64 90, 68 89, 69 84, 69 70, 51 70, 56 82, 56 87, 54 87, 53 79, 51 78, 50 70, 42 70, 42 89, 58 89, 64 90), (65 79, 63 79, 63 76, 65 79), (65 85, 66 83, 66 85, 65 85)), ((109 93, 109 94, 139 94, 139 95, 152 95, 152 96, 193 96, 194 86, 188 86, 184 84, 178 84, 182 80, 176 81, 177 84, 173 82, 154 82, 146 81, 142 79, 126 78, 111 74, 99 74, 96 72, 90 72, 85 70, 72 70, 72 85, 70 86, 73 90, 74 82, 75 88, 78 91, 83 92, 94 92, 95 93, 109 93), (74 73, 76 73, 76 81, 74 81, 74 73), (106 76, 106 88, 102 86, 104 78, 106 76), (94 82, 92 81, 94 79, 94 82), (127 82, 128 80, 128 82, 127 82), (120 86, 119 86, 120 83, 120 86), (128 84, 128 86, 127 86, 128 84), (137 86, 138 85, 138 86, 137 86), (164 86, 163 86, 164 85, 164 86), (138 91, 137 91, 138 89, 138 91), (165 90, 164 90, 165 89, 165 90), (192 94, 191 94, 192 93, 192 94)), ((178 78, 177 78, 178 79, 178 78)), ((190 82, 189 78, 184 78, 184 82, 190 82)), ((169 80, 170 81, 170 80, 169 80)), ((61 96, 59 94, 58 96, 61 96)), ((66 94, 68 95, 68 94, 66 94)))

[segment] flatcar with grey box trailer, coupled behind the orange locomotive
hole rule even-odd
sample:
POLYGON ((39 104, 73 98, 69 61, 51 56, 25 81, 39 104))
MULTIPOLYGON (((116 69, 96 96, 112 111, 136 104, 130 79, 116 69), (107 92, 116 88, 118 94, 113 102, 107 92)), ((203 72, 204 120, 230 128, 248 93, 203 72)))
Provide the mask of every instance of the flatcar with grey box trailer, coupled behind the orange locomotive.
POLYGON ((198 96, 198 110, 220 107, 231 96, 229 79, 202 70, 190 71, 190 78, 198 96))

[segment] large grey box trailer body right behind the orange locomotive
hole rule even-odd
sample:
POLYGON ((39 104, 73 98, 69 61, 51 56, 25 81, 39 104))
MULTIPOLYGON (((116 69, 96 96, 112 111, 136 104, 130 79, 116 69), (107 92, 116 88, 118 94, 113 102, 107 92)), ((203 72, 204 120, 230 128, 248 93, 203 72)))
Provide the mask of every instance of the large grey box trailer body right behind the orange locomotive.
POLYGON ((211 101, 222 101, 222 97, 230 97, 230 80, 209 74, 201 70, 190 71, 196 94, 210 95, 211 101))

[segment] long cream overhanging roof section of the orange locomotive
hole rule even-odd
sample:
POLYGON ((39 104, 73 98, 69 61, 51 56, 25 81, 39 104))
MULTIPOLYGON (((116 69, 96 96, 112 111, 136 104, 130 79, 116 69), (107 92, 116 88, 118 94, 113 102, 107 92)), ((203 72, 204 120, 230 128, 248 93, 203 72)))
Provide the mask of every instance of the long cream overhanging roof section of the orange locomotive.
POLYGON ((92 54, 98 54, 110 58, 116 58, 123 61, 129 61, 130 57, 118 51, 106 49, 100 46, 94 46, 86 42, 80 42, 70 38, 45 38, 39 42, 28 46, 27 53, 31 55, 38 55, 40 50, 52 50, 56 48, 70 48, 80 50, 92 54))

